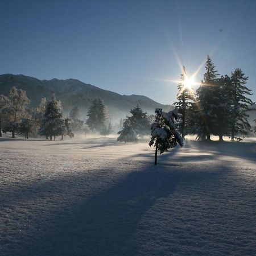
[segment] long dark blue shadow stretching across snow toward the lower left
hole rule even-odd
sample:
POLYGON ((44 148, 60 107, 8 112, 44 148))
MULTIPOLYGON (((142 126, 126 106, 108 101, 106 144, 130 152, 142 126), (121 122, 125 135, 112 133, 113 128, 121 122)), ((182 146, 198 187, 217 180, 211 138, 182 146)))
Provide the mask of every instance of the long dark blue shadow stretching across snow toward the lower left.
POLYGON ((20 255, 135 255, 131 237, 143 213, 178 182, 179 175, 164 169, 131 172, 114 187, 69 205, 72 214, 56 214, 40 236, 22 241, 20 255))

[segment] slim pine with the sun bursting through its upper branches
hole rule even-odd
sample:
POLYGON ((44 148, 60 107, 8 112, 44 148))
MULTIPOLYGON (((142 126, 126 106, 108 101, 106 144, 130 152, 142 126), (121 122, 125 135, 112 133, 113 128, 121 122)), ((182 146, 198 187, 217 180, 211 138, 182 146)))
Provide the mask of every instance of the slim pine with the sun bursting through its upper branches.
POLYGON ((178 110, 177 117, 177 131, 181 134, 181 137, 184 139, 185 135, 188 134, 189 130, 189 112, 191 111, 191 104, 193 101, 193 92, 186 88, 184 81, 187 77, 185 66, 183 66, 183 71, 180 76, 180 82, 177 86, 179 93, 177 94, 177 101, 174 102, 174 106, 178 110))

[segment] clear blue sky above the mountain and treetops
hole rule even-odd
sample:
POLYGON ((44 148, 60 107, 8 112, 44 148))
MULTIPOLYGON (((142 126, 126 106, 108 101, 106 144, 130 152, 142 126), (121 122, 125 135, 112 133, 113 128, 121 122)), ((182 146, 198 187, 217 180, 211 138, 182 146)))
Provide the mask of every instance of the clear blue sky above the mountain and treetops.
POLYGON ((254 0, 0 0, 0 74, 172 104, 179 62, 192 74, 209 54, 222 75, 241 68, 256 101, 255 12, 254 0))

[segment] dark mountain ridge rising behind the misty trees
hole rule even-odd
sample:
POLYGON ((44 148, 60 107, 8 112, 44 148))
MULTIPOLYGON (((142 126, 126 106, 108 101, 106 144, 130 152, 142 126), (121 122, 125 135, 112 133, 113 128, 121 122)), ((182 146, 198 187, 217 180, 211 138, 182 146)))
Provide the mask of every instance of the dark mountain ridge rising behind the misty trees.
POLYGON ((54 92, 56 98, 61 100, 65 114, 73 107, 78 106, 82 118, 86 118, 87 110, 94 98, 101 98, 104 101, 113 120, 126 117, 127 114, 129 115, 130 109, 137 104, 148 114, 154 113, 155 108, 162 108, 166 111, 173 109, 171 105, 160 104, 145 96, 121 95, 76 79, 39 80, 24 75, 0 75, 0 94, 7 96, 13 86, 26 90, 32 107, 38 106, 43 97, 51 98, 54 92))

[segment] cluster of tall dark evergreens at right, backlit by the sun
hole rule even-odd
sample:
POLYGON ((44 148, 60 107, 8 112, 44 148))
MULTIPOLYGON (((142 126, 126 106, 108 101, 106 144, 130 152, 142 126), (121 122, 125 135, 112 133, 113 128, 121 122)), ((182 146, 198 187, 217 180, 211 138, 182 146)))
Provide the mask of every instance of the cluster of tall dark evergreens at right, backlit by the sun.
POLYGON ((253 131, 247 120, 248 112, 253 110, 250 106, 254 104, 249 98, 251 90, 246 87, 248 77, 240 68, 230 76, 220 76, 209 55, 205 69, 201 85, 194 93, 184 86, 187 73, 183 67, 174 103, 179 111, 177 130, 183 138, 196 134, 197 139, 210 141, 211 135, 217 135, 220 141, 224 136, 241 141, 239 136, 253 131))

